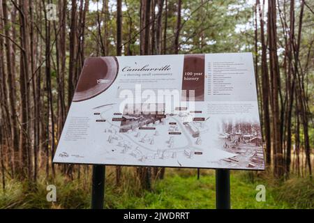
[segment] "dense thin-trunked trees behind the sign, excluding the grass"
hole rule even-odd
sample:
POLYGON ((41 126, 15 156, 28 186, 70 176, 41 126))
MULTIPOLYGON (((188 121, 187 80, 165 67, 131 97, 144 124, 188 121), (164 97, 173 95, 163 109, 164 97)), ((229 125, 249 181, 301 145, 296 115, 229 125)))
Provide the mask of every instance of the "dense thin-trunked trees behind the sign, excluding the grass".
MULTIPOLYGON (((52 164, 88 56, 253 52, 267 170, 311 177, 313 10, 306 0, 0 0, 3 189, 91 174, 52 164)), ((126 167, 114 168, 119 185, 126 167)), ((129 168, 147 189, 167 171, 129 168)))

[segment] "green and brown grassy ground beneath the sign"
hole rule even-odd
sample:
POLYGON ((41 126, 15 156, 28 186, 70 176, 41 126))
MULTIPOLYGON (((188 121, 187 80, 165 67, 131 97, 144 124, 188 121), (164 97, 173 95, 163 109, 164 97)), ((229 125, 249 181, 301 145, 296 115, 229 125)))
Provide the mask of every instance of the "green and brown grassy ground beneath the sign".
MULTIPOLYGON (((109 167, 112 168, 112 167, 109 167)), ((120 187, 114 184, 114 169, 107 171, 105 208, 215 208, 215 173, 201 170, 197 180, 195 169, 167 169, 163 180, 152 184, 152 190, 138 190, 130 175, 120 187), (109 172, 109 173, 108 173, 109 172)), ((232 208, 314 208, 314 183, 308 178, 291 177, 276 183, 269 174, 232 171, 232 208), (255 197, 257 185, 266 188, 266 201, 255 197)), ((0 208, 90 208, 90 178, 65 180, 58 176, 57 201, 47 202, 47 180, 27 190, 27 186, 10 180, 0 190, 0 208)), ((29 188, 29 187, 28 187, 29 188)))

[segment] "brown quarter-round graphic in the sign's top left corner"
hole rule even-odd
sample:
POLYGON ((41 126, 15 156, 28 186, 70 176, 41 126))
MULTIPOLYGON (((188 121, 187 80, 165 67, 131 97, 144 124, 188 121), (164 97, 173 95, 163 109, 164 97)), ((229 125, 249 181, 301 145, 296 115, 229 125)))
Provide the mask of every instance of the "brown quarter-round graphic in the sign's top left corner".
POLYGON ((94 98, 106 91, 117 78, 118 68, 118 61, 114 56, 86 59, 73 96, 73 102, 94 98))

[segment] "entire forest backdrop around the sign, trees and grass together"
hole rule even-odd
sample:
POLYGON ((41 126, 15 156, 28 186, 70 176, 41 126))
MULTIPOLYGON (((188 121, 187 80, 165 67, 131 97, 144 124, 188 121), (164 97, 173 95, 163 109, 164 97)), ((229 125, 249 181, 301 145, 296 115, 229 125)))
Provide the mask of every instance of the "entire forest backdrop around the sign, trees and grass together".
MULTIPOLYGON (((232 207, 313 208, 313 8, 306 0, 0 0, 0 208, 89 208, 91 166, 52 164, 88 56, 216 52, 253 52, 267 164, 232 171, 232 207), (259 184, 264 203, 255 200, 259 184)), ((214 208, 214 171, 197 179, 193 169, 106 169, 107 208, 214 208)))

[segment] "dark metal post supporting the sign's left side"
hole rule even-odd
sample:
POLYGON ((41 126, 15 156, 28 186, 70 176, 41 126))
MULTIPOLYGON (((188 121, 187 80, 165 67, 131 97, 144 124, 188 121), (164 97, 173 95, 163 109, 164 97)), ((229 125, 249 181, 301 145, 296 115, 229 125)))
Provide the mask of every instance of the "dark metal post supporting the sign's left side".
POLYGON ((93 166, 92 180, 91 209, 103 209, 103 199, 105 195, 105 165, 93 166))

